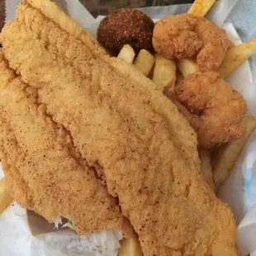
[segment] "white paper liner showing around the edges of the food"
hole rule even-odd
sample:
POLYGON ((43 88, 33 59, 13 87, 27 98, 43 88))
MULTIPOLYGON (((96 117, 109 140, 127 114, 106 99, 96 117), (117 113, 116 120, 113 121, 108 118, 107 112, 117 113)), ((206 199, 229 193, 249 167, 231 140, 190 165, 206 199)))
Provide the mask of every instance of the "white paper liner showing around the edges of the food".
MULTIPOLYGON (((15 16, 19 0, 7 0, 7 21, 15 16)), ((102 17, 94 19, 78 0, 55 0, 69 15, 76 18, 92 35, 102 17)), ((154 21, 170 14, 187 12, 189 4, 169 7, 141 8, 154 21)), ((223 26, 235 45, 256 38, 256 1, 219 0, 207 17, 223 26)), ((256 56, 241 66, 228 80, 241 92, 256 116, 256 56)), ((0 178, 3 175, 0 171, 0 178)), ((227 202, 238 223, 237 242, 243 255, 256 256, 256 132, 251 135, 239 162, 226 183, 220 187, 218 197, 227 202)), ((86 221, 86 220, 85 220, 86 221)), ((59 225, 61 220, 59 220, 59 225)), ((116 256, 121 232, 102 230, 97 235, 78 237, 69 229, 54 230, 46 220, 27 212, 16 202, 0 216, 1 256, 116 256)))

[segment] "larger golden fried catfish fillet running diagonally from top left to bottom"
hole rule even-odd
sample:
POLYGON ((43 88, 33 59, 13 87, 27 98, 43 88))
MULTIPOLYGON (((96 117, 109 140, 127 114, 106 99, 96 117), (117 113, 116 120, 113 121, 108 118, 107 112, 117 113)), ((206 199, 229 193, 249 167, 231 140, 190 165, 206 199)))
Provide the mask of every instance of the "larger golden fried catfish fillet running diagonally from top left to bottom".
POLYGON ((195 132, 153 82, 49 1, 23 1, 0 40, 86 163, 102 167, 145 256, 239 255, 232 213, 201 177, 195 132))

